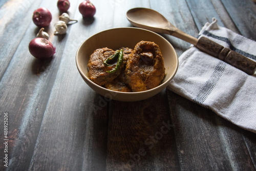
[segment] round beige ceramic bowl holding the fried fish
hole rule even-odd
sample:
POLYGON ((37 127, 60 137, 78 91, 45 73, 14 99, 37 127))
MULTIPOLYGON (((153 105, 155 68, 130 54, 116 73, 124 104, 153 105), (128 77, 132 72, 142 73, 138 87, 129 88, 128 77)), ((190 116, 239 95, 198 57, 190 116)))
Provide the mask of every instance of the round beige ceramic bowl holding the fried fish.
POLYGON ((166 88, 178 69, 178 57, 173 46, 162 36, 139 28, 115 28, 99 32, 82 42, 76 52, 76 66, 83 80, 98 94, 119 101, 138 101, 150 98, 166 88), (141 41, 154 41, 164 58, 165 74, 160 86, 142 92, 117 92, 98 86, 88 78, 87 64, 94 50, 108 47, 116 50, 121 47, 134 49, 141 41))

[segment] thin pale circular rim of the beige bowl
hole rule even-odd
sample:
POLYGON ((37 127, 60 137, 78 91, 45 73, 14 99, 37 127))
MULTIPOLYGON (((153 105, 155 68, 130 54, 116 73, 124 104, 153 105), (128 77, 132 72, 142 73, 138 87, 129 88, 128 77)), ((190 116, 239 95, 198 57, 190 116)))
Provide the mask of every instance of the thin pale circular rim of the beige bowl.
POLYGON ((106 91, 109 91, 109 92, 113 92, 113 93, 120 93, 120 94, 124 94, 124 95, 125 95, 125 94, 127 94, 127 95, 143 94, 143 93, 146 93, 146 92, 154 91, 154 90, 159 89, 159 88, 160 88, 160 89, 161 89, 161 88, 162 88, 162 89, 166 88, 167 86, 165 86, 165 85, 166 85, 166 84, 169 84, 170 80, 173 79, 173 77, 174 77, 175 74, 177 73, 177 70, 178 70, 178 67, 179 67, 179 58, 178 58, 177 52, 175 51, 173 45, 170 44, 170 42, 169 42, 167 39, 165 39, 163 36, 157 34, 156 32, 153 32, 153 31, 150 31, 150 30, 147 30, 147 29, 136 28, 136 27, 117 27, 117 28, 111 28, 111 29, 106 29, 106 30, 103 30, 103 31, 100 31, 100 32, 97 32, 97 33, 91 35, 91 36, 88 37, 86 40, 84 40, 83 42, 81 42, 80 46, 78 47, 78 49, 77 49, 77 51, 76 51, 76 59, 75 59, 75 60, 76 60, 76 67, 77 67, 79 73, 82 75, 82 77, 83 77, 84 79, 86 79, 87 81, 89 81, 90 83, 92 83, 94 86, 96 86, 96 87, 99 88, 99 89, 103 89, 103 90, 106 90, 106 91), (79 63, 78 63, 78 52, 79 52, 79 50, 81 49, 81 47, 82 47, 82 45, 84 44, 84 42, 86 42, 86 41, 87 41, 88 39, 90 39, 91 37, 93 37, 93 36, 95 36, 95 35, 97 35, 97 34, 100 34, 100 33, 102 33, 102 32, 106 32, 106 31, 109 31, 109 30, 115 30, 115 29, 137 29, 137 30, 144 30, 144 31, 147 31, 147 32, 151 32, 151 33, 153 33, 153 34, 156 34, 157 36, 160 36, 161 38, 163 38, 163 39, 173 48, 174 54, 175 54, 175 56, 176 56, 177 65, 176 65, 176 68, 175 68, 175 71, 173 72, 173 74, 172 74, 166 81, 162 82, 159 86, 157 86, 157 87, 155 87, 155 88, 153 88, 153 89, 145 90, 145 91, 141 91, 141 92, 120 92, 120 91, 114 91, 114 90, 110 90, 110 89, 106 89, 106 88, 104 88, 104 87, 101 87, 101 86, 99 86, 98 84, 94 83, 92 80, 90 80, 90 79, 86 76, 86 74, 84 74, 84 73, 82 72, 82 70, 80 69, 80 66, 79 66, 79 63))

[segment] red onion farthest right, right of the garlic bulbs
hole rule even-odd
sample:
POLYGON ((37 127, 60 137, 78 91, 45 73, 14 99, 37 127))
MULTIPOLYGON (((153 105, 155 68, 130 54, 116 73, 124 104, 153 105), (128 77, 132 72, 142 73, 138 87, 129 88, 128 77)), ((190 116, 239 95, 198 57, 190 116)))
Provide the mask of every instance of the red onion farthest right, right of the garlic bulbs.
POLYGON ((96 8, 89 0, 86 0, 79 5, 79 12, 83 17, 93 17, 96 13, 96 8))

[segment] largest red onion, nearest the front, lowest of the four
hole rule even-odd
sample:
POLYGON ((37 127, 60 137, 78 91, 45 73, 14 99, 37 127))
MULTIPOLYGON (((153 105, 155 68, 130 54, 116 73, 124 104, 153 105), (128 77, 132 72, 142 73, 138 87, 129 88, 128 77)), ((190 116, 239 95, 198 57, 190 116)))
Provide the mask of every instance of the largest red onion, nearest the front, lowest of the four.
POLYGON ((55 47, 46 38, 37 37, 30 41, 29 52, 37 59, 46 59, 53 56, 55 47))

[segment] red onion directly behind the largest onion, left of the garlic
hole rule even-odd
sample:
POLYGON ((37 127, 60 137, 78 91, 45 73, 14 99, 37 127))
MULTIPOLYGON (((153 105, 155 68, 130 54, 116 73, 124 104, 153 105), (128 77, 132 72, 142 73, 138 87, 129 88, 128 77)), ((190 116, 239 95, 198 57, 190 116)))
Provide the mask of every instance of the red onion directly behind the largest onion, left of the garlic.
POLYGON ((48 27, 52 20, 52 14, 47 8, 38 8, 33 13, 33 22, 38 27, 48 27))

